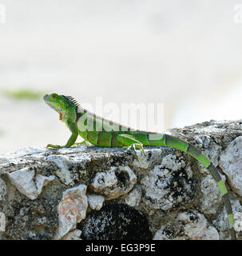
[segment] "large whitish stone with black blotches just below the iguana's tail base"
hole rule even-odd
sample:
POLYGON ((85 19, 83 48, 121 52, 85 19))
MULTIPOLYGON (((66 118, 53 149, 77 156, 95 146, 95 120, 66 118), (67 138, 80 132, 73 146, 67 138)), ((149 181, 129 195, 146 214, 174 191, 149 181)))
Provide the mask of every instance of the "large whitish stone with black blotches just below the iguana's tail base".
POLYGON ((142 190, 145 191, 143 201, 149 207, 161 210, 175 210, 192 202, 194 186, 190 166, 186 166, 183 158, 171 154, 141 180, 142 190))

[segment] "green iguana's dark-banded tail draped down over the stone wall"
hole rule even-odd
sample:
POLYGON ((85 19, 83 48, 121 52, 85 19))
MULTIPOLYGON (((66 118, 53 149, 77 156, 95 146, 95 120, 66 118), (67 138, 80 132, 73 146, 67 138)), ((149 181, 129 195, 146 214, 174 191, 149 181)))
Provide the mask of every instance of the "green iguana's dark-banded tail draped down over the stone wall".
POLYGON ((216 181, 216 184, 220 189, 220 193, 222 194, 224 205, 228 214, 228 222, 231 230, 232 239, 236 240, 236 232, 233 229, 234 218, 232 214, 231 202, 228 197, 228 191, 226 189, 226 186, 224 185, 224 181, 222 180, 220 173, 216 170, 216 167, 203 153, 200 152, 200 150, 197 150, 195 146, 192 146, 191 144, 185 142, 184 140, 181 140, 180 138, 175 138, 171 135, 164 134, 161 138, 161 142, 162 146, 170 146, 176 148, 177 150, 181 150, 190 154, 193 158, 198 160, 205 168, 207 168, 210 174, 212 174, 212 178, 214 178, 214 180, 216 181))

